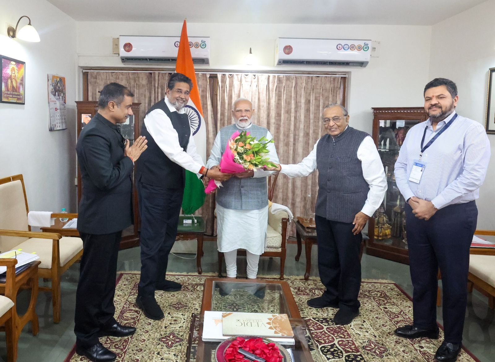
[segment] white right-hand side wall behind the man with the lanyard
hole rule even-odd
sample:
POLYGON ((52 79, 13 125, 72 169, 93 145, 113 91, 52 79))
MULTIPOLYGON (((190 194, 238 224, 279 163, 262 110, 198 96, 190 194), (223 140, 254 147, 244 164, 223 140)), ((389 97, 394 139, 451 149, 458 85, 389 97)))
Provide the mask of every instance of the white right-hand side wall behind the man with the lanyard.
MULTIPOLYGON (((495 67, 495 1, 486 1, 433 26, 429 78, 457 84, 457 112, 485 124, 488 69, 495 67)), ((495 135, 492 158, 480 190, 478 229, 495 230, 495 135)))

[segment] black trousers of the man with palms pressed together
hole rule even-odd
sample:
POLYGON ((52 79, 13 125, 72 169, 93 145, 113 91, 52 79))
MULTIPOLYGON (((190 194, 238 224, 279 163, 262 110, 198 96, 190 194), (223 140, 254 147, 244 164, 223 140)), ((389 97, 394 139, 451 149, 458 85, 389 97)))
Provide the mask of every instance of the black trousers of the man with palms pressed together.
POLYGON ((76 291, 74 333, 76 344, 87 348, 98 343, 100 329, 115 323, 113 296, 122 231, 80 235, 84 253, 76 291))

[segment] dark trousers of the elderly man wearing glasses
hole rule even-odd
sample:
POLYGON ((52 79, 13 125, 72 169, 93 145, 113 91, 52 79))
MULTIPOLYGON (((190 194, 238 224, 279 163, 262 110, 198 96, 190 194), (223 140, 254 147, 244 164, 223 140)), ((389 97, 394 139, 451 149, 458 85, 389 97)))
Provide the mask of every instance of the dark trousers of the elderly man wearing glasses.
POLYGON ((318 271, 326 287, 323 297, 339 303, 340 309, 359 310, 361 287, 359 251, 362 235, 352 234, 352 223, 331 221, 315 216, 318 239, 318 271))

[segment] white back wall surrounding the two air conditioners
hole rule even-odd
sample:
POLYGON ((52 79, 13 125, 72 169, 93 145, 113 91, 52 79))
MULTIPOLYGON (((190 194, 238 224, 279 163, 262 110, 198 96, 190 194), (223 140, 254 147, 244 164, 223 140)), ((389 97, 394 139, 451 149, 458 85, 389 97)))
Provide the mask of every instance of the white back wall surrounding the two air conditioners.
MULTIPOLYGON (((78 22, 77 26, 79 66, 122 67, 119 56, 112 54, 112 38, 119 35, 179 36, 182 22, 78 22)), ((366 68, 292 69, 350 70, 350 122, 367 132, 372 129, 371 107, 421 106, 423 103, 422 89, 429 74, 429 26, 188 23, 188 35, 210 37, 210 65, 198 66, 201 70, 289 70, 291 68, 285 66, 274 67, 278 37, 381 41, 380 57, 372 58, 366 68), (257 57, 253 66, 244 65, 249 47, 257 57)))

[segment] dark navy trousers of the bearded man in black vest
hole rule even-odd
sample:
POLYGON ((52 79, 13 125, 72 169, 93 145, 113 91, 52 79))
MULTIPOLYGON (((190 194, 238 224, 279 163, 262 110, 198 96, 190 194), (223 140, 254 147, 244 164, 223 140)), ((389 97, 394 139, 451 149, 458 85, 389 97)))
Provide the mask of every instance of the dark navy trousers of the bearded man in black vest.
POLYGON ((165 280, 168 255, 177 236, 184 189, 137 183, 141 214, 141 279, 138 294, 154 297, 156 285, 165 280))

